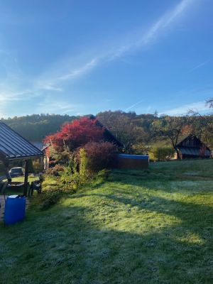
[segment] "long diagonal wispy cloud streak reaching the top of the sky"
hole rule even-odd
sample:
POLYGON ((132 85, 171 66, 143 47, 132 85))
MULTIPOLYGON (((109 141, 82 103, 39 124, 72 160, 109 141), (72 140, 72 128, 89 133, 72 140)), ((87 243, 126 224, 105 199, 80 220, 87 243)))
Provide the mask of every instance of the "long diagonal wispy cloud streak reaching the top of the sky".
MULTIPOLYGON (((153 23, 153 25, 146 31, 137 33, 135 38, 125 40, 125 43, 116 46, 113 46, 114 44, 112 43, 109 51, 102 49, 99 51, 98 55, 96 53, 94 57, 87 59, 84 63, 77 67, 72 67, 71 69, 67 67, 66 70, 61 70, 58 75, 51 76, 45 74, 45 78, 38 82, 38 86, 41 89, 47 89, 48 86, 49 90, 60 90, 61 84, 77 80, 79 77, 82 77, 82 75, 91 72, 95 67, 98 67, 109 60, 117 60, 118 58, 124 57, 127 53, 140 50, 143 46, 151 44, 157 38, 160 38, 160 36, 167 31, 168 28, 171 29, 175 21, 178 21, 178 19, 192 6, 193 3, 195 3, 195 0, 182 0, 171 11, 167 11, 163 14, 163 16, 153 23)), ((122 40, 120 40, 120 42, 122 42, 122 40)), ((70 61, 70 58, 68 58, 67 61, 70 61)))

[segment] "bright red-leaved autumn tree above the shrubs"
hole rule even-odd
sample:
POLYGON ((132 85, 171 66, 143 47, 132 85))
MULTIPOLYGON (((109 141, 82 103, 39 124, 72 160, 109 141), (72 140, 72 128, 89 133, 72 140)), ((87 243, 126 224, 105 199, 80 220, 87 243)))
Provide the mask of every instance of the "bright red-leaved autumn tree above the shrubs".
POLYGON ((67 146, 70 151, 74 151, 88 142, 101 141, 103 133, 104 127, 97 125, 97 119, 82 117, 65 124, 57 133, 46 136, 45 143, 51 143, 59 148, 67 146))

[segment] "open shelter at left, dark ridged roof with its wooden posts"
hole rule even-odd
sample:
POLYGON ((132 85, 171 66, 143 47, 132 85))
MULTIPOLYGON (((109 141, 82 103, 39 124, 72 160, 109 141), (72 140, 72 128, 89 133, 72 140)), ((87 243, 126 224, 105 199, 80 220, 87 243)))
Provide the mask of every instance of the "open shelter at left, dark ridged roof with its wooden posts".
POLYGON ((25 175, 23 195, 27 196, 29 160, 43 157, 43 152, 33 146, 16 131, 0 122, 0 161, 4 165, 4 171, 8 182, 11 182, 9 175, 9 163, 13 160, 25 161, 25 175))

